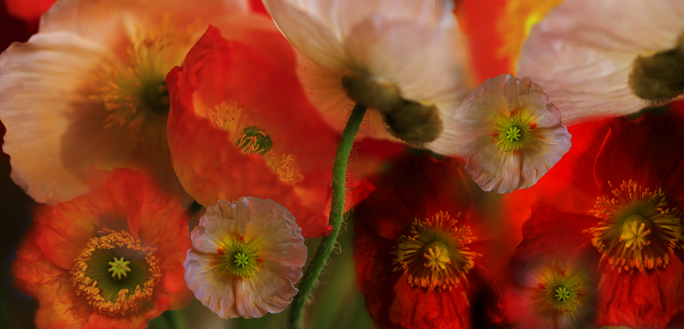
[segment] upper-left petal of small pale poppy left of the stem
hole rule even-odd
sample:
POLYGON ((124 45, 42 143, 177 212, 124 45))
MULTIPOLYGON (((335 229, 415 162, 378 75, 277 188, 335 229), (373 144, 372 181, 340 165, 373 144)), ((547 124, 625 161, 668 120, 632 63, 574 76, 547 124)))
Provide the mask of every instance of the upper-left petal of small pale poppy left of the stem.
POLYGON ((207 207, 207 213, 202 215, 199 224, 190 233, 192 248, 200 252, 216 253, 218 248, 224 246, 228 237, 244 237, 251 212, 245 198, 235 202, 218 200, 216 205, 207 207))

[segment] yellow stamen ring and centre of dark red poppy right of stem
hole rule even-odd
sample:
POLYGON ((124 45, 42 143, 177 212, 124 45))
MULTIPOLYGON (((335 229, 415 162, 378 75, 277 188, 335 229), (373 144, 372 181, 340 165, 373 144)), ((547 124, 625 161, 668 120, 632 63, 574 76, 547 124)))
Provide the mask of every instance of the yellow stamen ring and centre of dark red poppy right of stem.
POLYGON ((473 239, 470 226, 458 226, 449 213, 416 219, 408 234, 397 239, 394 270, 407 273, 412 287, 450 289, 475 265, 477 253, 466 247, 473 239))

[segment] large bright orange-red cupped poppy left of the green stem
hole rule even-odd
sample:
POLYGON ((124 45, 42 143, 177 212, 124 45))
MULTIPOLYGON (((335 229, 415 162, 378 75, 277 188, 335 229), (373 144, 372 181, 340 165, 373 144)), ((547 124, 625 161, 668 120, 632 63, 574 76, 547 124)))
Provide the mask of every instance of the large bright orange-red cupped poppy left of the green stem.
POLYGON ((270 198, 295 215, 304 237, 327 235, 334 135, 308 103, 287 41, 273 31, 252 42, 210 27, 169 73, 176 174, 202 205, 270 198))

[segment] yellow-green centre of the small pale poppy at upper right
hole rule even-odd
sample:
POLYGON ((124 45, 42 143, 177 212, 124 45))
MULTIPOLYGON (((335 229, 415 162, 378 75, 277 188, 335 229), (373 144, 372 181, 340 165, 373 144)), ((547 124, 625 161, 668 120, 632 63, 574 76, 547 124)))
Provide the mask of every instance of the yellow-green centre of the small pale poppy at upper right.
POLYGON ((499 150, 517 153, 525 150, 533 141, 532 130, 536 128, 536 124, 528 118, 511 111, 508 116, 500 116, 497 120, 492 141, 497 143, 499 150))

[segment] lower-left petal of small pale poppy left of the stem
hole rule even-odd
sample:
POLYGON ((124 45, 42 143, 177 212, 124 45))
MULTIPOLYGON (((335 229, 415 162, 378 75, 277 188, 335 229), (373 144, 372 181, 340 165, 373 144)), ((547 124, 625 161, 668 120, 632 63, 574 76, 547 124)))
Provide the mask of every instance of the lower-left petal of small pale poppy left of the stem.
POLYGON ((224 319, 240 316, 235 304, 237 280, 226 273, 220 255, 190 248, 183 267, 185 282, 195 293, 195 298, 224 319))

